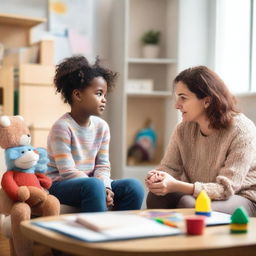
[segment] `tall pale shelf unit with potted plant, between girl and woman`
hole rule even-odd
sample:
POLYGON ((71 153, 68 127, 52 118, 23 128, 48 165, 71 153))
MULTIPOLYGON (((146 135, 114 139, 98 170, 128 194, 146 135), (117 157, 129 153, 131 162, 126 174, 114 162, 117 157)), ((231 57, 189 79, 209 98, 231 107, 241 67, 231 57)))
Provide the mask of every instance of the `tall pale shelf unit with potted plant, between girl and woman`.
MULTIPOLYGON (((173 129, 172 80, 177 74, 178 0, 115 0, 113 13, 113 68, 119 79, 109 99, 111 129, 110 160, 114 178, 137 177, 163 157, 173 129), (143 58, 141 37, 147 30, 160 30, 159 58, 143 58), (129 79, 150 79, 153 91, 128 91, 129 79), (128 148, 147 119, 157 133, 154 159, 131 166, 128 148)), ((176 124, 176 122, 174 122, 176 124)))

